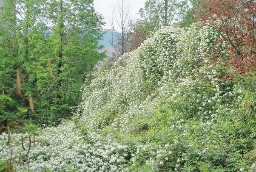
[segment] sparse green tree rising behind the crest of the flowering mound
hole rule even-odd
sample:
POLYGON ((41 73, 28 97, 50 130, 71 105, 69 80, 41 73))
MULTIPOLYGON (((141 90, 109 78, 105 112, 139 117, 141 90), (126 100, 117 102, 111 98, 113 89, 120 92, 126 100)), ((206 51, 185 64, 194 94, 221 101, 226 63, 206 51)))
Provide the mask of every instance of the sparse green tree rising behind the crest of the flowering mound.
POLYGON ((149 22, 157 29, 174 23, 189 26, 197 21, 201 3, 202 0, 146 0, 139 14, 144 23, 149 22))

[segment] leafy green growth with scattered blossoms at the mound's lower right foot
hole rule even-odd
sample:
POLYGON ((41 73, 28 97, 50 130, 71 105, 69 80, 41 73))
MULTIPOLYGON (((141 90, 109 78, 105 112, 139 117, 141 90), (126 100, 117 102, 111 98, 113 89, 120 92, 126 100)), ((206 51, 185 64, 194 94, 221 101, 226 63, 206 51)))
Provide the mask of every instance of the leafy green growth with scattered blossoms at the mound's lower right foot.
MULTIPOLYGON (((252 96, 250 94, 249 100, 252 96)), ((184 100, 179 101, 183 103, 184 100)), ((141 164, 141 161, 147 161, 149 154, 151 158, 157 157, 151 163, 148 161, 155 164, 153 167, 156 171, 196 171, 201 168, 206 172, 232 172, 241 167, 245 171, 250 171, 253 163, 250 160, 250 152, 254 150, 256 140, 256 128, 253 127, 256 120, 251 115, 253 109, 248 111, 246 104, 234 102, 233 108, 239 106, 240 109, 225 116, 219 113, 216 122, 207 124, 186 117, 186 111, 176 112, 176 107, 169 100, 161 102, 165 102, 164 105, 159 104, 158 109, 152 112, 152 116, 143 120, 148 123, 147 132, 143 135, 138 131, 133 132, 140 138, 141 143, 150 143, 149 147, 142 148, 135 156, 135 166, 137 163, 141 164), (226 158, 229 158, 228 162, 226 158), (205 163, 204 166, 202 162, 205 163)), ((140 121, 134 119, 131 125, 140 126, 140 121)))

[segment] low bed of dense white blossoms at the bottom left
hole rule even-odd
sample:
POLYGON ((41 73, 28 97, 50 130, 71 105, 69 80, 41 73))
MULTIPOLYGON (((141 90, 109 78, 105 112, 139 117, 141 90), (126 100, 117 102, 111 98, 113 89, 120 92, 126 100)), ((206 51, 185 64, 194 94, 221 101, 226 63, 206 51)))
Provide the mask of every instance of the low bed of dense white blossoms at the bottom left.
POLYGON ((11 144, 7 145, 8 136, 3 133, 0 135, 0 161, 9 159, 12 152, 17 171, 28 166, 32 171, 63 171, 71 168, 71 164, 80 172, 121 172, 126 168, 126 146, 100 141, 93 134, 88 137, 80 134, 74 122, 65 122, 57 128, 41 130, 36 136, 36 145, 31 144, 27 155, 27 134, 23 135, 25 151, 20 134, 11 134, 11 144))

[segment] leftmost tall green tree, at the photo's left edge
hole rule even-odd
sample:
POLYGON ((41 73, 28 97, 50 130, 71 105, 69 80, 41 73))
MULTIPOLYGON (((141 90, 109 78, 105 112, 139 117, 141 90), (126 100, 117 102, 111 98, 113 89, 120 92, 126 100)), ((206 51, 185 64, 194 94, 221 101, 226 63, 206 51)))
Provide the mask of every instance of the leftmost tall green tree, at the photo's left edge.
POLYGON ((42 68, 44 28, 37 21, 38 0, 5 0, 0 14, 0 89, 12 98, 0 111, 0 122, 30 116, 28 95, 37 92, 37 73, 42 68), (17 80, 17 81, 16 81, 17 80), (16 93, 17 89, 17 93, 16 93), (27 112, 27 113, 25 113, 27 112))

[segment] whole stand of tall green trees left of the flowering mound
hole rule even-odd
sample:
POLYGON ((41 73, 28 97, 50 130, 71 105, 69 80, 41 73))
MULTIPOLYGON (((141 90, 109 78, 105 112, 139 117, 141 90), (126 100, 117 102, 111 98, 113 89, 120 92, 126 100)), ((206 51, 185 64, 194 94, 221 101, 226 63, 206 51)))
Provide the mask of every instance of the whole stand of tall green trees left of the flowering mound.
POLYGON ((76 110, 86 73, 105 56, 98 52, 102 17, 92 4, 92 0, 5 0, 0 13, 0 90, 12 101, 1 97, 0 122, 23 118, 57 125, 76 110), (16 94, 17 69, 23 97, 16 94), (36 118, 28 110, 29 94, 36 118))

